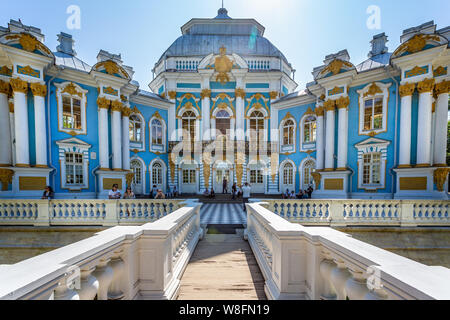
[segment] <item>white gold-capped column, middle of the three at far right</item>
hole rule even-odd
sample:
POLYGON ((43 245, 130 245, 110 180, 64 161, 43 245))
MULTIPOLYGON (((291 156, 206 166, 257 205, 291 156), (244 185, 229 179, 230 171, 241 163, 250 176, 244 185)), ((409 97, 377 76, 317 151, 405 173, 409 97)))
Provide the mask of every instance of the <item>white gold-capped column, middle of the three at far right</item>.
POLYGON ((434 79, 424 80, 417 85, 419 91, 419 124, 417 126, 417 166, 431 165, 431 119, 433 108, 434 79))

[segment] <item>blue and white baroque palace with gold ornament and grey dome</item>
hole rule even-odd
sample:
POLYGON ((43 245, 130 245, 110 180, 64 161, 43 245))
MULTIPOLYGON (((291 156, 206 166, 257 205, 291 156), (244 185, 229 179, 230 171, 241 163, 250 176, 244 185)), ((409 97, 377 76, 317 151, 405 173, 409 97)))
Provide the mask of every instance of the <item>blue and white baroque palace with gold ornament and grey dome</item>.
POLYGON ((407 29, 390 53, 295 70, 254 19, 192 19, 140 89, 120 55, 52 52, 40 29, 0 27, 0 198, 105 198, 113 184, 183 194, 222 181, 315 198, 447 199, 450 28, 407 29), (222 149, 222 147, 225 147, 222 149))

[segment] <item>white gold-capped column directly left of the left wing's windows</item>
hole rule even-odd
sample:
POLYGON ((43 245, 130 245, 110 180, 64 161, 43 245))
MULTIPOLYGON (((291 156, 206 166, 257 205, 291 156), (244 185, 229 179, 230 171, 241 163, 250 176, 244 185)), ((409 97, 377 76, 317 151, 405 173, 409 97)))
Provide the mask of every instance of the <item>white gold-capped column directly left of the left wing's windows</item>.
POLYGON ((30 85, 34 95, 34 124, 36 141, 36 167, 47 168, 47 128, 45 121, 45 84, 32 83, 30 85))

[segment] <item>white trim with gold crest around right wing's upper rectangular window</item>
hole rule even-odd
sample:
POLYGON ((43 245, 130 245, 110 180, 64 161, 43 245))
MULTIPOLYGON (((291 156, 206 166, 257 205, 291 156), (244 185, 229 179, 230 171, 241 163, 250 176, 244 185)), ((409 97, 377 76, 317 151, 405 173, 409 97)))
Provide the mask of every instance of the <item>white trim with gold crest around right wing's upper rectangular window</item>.
POLYGON ((392 83, 382 83, 382 82, 373 82, 369 83, 364 89, 358 90, 359 94, 359 135, 370 135, 370 134, 380 134, 383 132, 387 132, 387 122, 388 122, 388 103, 389 103, 389 88, 392 83), (376 85, 381 89, 382 93, 378 92, 372 95, 368 94, 370 88, 373 85, 376 85), (365 96, 366 95, 366 96, 365 96), (364 111, 365 111, 365 100, 374 99, 376 97, 383 97, 383 121, 382 128, 376 130, 364 130, 364 111))

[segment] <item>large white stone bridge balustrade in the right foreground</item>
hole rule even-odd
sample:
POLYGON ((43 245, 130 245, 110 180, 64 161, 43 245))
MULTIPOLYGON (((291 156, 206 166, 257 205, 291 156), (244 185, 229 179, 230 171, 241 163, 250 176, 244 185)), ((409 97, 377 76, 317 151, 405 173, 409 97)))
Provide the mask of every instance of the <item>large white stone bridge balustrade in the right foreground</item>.
MULTIPOLYGON (((269 299, 450 298, 447 268, 420 264, 329 227, 291 223, 264 206, 271 207, 271 204, 247 205, 245 235, 266 280, 265 292, 269 299)), ((332 208, 333 202, 327 206, 332 208)), ((428 202, 416 205, 413 216, 419 217, 420 210, 424 214, 424 206, 427 210, 433 207, 428 202)))

